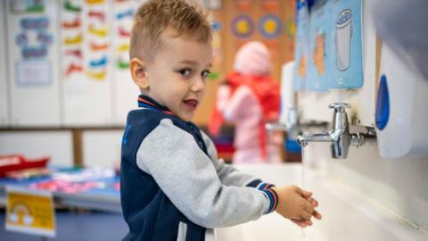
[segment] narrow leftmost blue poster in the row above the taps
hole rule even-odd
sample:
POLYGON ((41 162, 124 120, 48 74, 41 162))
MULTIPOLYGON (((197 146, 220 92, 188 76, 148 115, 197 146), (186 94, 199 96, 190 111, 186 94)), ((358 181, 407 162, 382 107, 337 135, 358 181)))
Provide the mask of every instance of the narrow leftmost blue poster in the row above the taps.
POLYGON ((296 91, 305 89, 308 70, 309 54, 309 7, 308 2, 300 0, 297 3, 297 32, 294 48, 294 77, 292 78, 292 88, 296 91))

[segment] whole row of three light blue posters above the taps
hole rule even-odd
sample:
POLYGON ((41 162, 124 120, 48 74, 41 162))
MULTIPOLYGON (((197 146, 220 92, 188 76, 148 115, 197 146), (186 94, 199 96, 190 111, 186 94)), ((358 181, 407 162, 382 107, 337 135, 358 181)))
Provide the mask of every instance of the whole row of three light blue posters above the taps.
POLYGON ((361 0, 298 3, 295 90, 363 86, 361 7, 361 0))

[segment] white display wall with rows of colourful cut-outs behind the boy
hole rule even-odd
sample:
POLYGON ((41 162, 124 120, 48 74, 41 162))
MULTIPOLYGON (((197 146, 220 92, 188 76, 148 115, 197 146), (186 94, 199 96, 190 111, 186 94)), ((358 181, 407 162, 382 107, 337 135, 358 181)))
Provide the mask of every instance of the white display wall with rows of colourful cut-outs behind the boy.
POLYGON ((8 0, 12 126, 123 125, 138 95, 128 50, 143 2, 8 0))

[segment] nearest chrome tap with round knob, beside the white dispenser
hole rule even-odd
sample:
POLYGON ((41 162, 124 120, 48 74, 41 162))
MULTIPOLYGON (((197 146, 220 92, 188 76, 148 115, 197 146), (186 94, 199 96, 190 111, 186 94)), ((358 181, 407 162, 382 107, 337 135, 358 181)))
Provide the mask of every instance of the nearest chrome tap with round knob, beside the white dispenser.
POLYGON ((345 159, 348 156, 350 145, 365 145, 375 143, 375 132, 373 128, 366 127, 366 133, 350 133, 350 126, 346 108, 350 104, 334 103, 328 106, 334 109, 332 129, 327 133, 308 134, 297 137, 301 146, 306 146, 309 142, 329 142, 332 157, 335 159, 345 159))

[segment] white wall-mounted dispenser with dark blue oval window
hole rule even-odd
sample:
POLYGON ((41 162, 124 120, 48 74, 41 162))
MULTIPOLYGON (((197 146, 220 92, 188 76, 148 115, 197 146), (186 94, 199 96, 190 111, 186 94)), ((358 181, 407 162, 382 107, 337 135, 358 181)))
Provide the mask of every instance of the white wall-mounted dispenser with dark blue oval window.
POLYGON ((375 120, 383 158, 428 155, 428 79, 383 45, 375 120))

